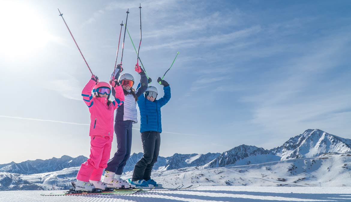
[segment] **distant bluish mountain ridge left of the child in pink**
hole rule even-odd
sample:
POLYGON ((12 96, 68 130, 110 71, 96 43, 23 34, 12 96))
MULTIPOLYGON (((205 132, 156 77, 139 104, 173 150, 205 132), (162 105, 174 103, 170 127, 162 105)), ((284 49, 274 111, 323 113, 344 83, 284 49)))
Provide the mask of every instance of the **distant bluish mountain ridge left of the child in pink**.
POLYGON ((64 155, 61 158, 52 158, 47 160, 37 159, 34 161, 28 160, 21 163, 7 163, 0 165, 0 172, 19 173, 19 174, 34 174, 34 173, 47 173, 64 168, 80 166, 85 162, 85 156, 78 156, 72 158, 71 156, 64 155), (3 167, 1 167, 3 166, 3 167))

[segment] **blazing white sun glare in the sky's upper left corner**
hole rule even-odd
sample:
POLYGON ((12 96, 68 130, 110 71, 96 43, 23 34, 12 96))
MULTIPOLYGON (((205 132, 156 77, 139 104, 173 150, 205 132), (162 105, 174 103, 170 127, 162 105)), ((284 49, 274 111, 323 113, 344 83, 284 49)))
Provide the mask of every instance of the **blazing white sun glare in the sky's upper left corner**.
POLYGON ((1 4, 1 57, 30 57, 51 40, 44 20, 31 5, 11 1, 1 4))

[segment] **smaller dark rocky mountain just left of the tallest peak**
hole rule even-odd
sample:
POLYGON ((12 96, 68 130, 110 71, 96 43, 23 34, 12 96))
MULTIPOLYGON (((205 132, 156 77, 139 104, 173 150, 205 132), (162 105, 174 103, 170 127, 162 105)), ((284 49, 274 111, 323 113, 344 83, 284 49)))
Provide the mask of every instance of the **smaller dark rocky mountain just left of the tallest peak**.
POLYGON ((240 145, 223 152, 216 159, 207 163, 204 168, 241 166, 279 160, 279 156, 272 154, 269 150, 262 147, 240 145))

